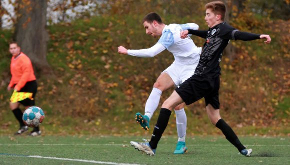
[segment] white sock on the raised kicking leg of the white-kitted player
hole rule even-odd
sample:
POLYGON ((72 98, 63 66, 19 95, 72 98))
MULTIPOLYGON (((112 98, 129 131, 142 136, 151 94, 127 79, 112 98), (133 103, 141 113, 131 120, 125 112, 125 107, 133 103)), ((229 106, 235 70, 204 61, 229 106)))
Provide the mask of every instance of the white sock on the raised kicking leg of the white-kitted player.
POLYGON ((153 113, 158 107, 162 91, 158 88, 153 88, 145 104, 145 115, 151 119, 153 113))

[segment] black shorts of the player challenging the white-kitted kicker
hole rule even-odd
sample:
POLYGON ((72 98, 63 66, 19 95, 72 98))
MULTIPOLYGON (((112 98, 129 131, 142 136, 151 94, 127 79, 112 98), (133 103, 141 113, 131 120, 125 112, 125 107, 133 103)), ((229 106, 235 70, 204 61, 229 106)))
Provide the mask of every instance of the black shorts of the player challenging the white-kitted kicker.
POLYGON ((219 109, 218 90, 219 76, 205 78, 193 75, 175 88, 186 105, 204 97, 205 106, 210 104, 214 109, 219 109))

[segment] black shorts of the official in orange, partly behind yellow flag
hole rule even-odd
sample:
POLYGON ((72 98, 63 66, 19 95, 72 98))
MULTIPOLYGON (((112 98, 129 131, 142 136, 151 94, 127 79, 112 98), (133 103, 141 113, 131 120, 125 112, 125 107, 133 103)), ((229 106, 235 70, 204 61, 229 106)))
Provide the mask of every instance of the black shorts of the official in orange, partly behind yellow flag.
POLYGON ((33 100, 26 98, 24 100, 18 101, 20 104, 22 104, 24 106, 35 105, 35 95, 37 92, 36 80, 26 82, 26 84, 18 92, 30 92, 30 93, 32 93, 32 98, 33 98, 33 100))

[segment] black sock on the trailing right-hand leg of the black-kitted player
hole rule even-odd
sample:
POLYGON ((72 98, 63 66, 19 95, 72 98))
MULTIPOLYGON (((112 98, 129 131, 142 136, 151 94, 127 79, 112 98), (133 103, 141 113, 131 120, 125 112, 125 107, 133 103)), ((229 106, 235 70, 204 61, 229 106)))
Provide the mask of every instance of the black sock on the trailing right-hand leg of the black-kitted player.
POLYGON ((237 138, 236 134, 233 132, 230 126, 226 124, 226 122, 223 119, 219 119, 217 123, 215 124, 215 126, 222 131, 225 138, 230 143, 232 143, 238 149, 238 151, 245 149, 245 147, 241 144, 241 142, 237 138))

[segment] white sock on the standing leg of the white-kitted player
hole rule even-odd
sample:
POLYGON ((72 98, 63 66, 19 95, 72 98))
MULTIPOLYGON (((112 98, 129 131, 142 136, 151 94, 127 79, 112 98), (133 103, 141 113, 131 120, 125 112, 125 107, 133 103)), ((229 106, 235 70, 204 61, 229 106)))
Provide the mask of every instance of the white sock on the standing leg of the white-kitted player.
POLYGON ((184 108, 174 111, 176 114, 176 128, 178 134, 178 141, 185 142, 187 119, 184 108))

